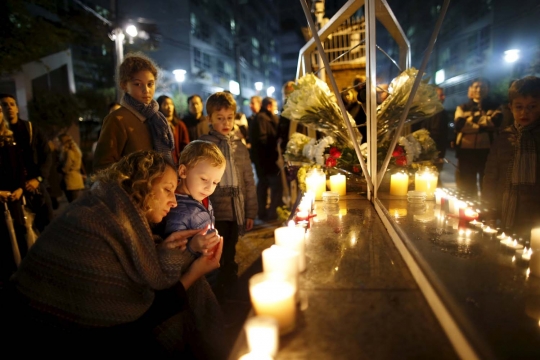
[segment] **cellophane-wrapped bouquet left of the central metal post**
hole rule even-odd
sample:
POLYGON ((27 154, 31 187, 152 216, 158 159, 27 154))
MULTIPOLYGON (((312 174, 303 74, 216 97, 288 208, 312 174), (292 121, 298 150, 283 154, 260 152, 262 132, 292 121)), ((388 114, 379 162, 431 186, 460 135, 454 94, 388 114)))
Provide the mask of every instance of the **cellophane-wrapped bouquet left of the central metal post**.
MULTIPOLYGON (((283 106, 282 115, 332 136, 342 146, 354 148, 334 93, 324 81, 313 74, 298 79, 294 91, 283 106)), ((356 128, 352 116, 348 113, 347 115, 360 143, 362 135, 356 128)))

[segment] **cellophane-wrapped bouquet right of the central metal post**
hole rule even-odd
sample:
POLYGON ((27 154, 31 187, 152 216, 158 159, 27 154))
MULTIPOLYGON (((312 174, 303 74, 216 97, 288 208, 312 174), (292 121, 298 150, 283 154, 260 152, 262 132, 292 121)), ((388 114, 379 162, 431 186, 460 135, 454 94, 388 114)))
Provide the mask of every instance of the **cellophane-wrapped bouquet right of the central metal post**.
MULTIPOLYGON (((398 75, 388 87, 388 97, 377 107, 377 140, 381 142, 399 124, 418 70, 410 68, 398 75)), ((422 79, 407 114, 405 124, 414 124, 443 111, 436 87, 422 79)))

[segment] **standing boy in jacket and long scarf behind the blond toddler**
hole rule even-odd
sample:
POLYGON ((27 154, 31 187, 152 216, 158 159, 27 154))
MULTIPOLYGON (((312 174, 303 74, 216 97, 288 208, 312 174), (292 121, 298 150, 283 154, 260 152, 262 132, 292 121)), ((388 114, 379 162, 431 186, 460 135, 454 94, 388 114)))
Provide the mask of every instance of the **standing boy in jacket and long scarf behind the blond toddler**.
MULTIPOLYGON (((216 214, 216 229, 223 236, 223 255, 218 288, 229 288, 237 279, 235 262, 238 237, 253 228, 257 215, 257 193, 249 152, 234 129, 236 102, 230 93, 217 92, 206 101, 210 133, 200 137, 217 145, 227 161, 225 173, 210 197, 216 214)), ((220 291, 218 290, 218 291, 220 291)))

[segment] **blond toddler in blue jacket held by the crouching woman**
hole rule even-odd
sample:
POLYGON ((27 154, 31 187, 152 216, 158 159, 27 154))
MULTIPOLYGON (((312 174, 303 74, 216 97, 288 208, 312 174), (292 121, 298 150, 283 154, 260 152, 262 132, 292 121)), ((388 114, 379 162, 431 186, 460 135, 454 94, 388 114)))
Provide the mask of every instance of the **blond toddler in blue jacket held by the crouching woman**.
POLYGON ((211 237, 214 230, 214 211, 209 196, 221 181, 224 171, 225 158, 218 147, 208 141, 194 140, 180 154, 180 180, 176 189, 178 205, 171 208, 160 226, 165 229, 164 236, 180 230, 207 228, 209 231, 205 235, 197 234, 188 241, 187 250, 195 256, 207 255, 212 248, 205 238, 211 237))

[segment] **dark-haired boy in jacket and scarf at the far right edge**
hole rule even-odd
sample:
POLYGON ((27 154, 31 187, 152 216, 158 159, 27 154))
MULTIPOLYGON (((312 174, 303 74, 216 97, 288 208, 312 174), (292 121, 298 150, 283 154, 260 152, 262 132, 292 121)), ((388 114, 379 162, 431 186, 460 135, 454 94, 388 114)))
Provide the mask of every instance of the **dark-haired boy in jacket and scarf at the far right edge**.
POLYGON ((483 198, 496 209, 503 228, 527 232, 540 221, 540 78, 516 80, 508 97, 514 124, 491 148, 483 198))

